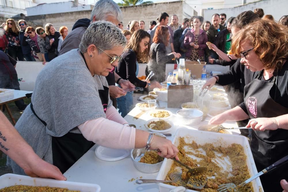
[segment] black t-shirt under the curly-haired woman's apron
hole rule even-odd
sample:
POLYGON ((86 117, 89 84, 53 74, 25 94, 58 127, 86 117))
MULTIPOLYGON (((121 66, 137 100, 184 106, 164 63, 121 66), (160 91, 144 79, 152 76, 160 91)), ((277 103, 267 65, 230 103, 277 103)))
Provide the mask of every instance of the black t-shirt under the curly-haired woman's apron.
MULTIPOLYGON (((273 77, 271 77, 270 79, 264 80, 263 75, 261 75, 259 77, 259 80, 261 81, 266 81, 266 82, 274 82, 276 76, 277 76, 277 71, 275 70, 273 73, 273 77)), ((277 80, 277 88, 274 89, 272 88, 270 90, 270 94, 271 98, 275 98, 275 102, 282 105, 283 107, 288 108, 288 89, 287 89, 287 85, 288 85, 288 60, 284 63, 283 67, 281 70, 278 71, 278 80, 277 80)), ((247 108, 245 106, 245 103, 241 103, 238 105, 239 107, 241 107, 245 113, 248 114, 247 108)))

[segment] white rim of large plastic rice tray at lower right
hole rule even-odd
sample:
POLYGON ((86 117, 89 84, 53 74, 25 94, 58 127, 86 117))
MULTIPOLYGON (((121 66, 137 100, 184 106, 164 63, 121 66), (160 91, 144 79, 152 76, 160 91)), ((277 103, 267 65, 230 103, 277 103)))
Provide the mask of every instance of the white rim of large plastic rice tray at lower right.
MULTIPOLYGON (((184 137, 186 142, 188 141, 192 142, 192 140, 194 140, 197 144, 212 143, 214 146, 221 145, 223 147, 227 147, 228 145, 231 145, 232 143, 240 144, 244 148, 244 153, 247 156, 246 164, 248 166, 250 175, 253 176, 258 173, 248 140, 244 136, 180 128, 177 130, 174 136, 174 139, 172 141, 172 143, 176 146, 179 145, 179 139, 178 139, 179 137, 184 137)), ((168 171, 170 170, 172 163, 173 163, 173 160, 166 159, 166 158, 164 159, 163 164, 156 177, 157 180, 165 180, 165 177, 168 171)), ((158 185, 159 185, 160 192, 169 192, 171 189, 175 188, 175 186, 167 185, 164 183, 158 183, 158 185)), ((253 189, 255 192, 264 191, 259 177, 252 181, 252 185, 253 185, 253 189)), ((194 190, 187 189, 186 192, 188 191, 194 191, 194 190)))

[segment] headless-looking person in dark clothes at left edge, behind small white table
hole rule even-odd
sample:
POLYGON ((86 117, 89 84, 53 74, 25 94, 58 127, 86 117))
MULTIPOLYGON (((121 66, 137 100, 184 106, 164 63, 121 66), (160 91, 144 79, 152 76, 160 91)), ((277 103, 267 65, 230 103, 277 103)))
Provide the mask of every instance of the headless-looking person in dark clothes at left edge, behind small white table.
MULTIPOLYGON (((12 57, 0 51, 0 88, 20 90, 15 70, 16 63, 12 57)), ((27 107, 23 99, 15 101, 15 104, 20 111, 24 111, 27 107)))

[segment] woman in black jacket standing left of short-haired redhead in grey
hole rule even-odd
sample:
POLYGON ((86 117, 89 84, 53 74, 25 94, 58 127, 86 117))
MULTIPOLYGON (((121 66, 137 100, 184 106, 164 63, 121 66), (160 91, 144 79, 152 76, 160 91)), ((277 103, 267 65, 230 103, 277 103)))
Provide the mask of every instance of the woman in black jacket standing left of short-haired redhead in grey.
POLYGON ((59 31, 56 31, 51 23, 45 25, 46 31, 46 49, 48 50, 48 58, 50 60, 58 56, 58 41, 60 37, 59 31))

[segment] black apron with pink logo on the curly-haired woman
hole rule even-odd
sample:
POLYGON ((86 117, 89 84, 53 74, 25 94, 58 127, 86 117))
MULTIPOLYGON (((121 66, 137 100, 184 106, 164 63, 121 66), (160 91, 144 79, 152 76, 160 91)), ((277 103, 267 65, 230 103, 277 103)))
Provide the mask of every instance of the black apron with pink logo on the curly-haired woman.
MULTIPOLYGON (((244 88, 244 102, 250 119, 288 114, 288 108, 275 102, 278 74, 272 82, 262 81, 263 71, 244 88), (274 94, 270 95, 271 92, 274 94), (272 99, 274 98, 274 99, 272 99)), ((288 155, 288 130, 252 131, 251 151, 258 172, 288 155)), ((288 164, 260 176, 265 192, 283 191, 281 179, 288 178, 288 164)))

